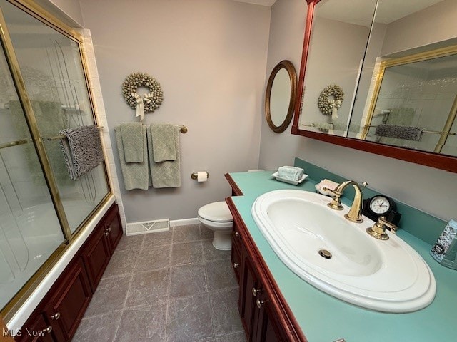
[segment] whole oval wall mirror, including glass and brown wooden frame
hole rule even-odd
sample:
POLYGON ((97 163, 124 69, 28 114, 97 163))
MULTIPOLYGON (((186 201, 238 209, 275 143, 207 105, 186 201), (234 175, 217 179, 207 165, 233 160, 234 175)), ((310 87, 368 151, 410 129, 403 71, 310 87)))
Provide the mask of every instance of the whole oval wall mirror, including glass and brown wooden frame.
POLYGON ((265 93, 265 116, 268 126, 281 133, 291 123, 297 88, 295 68, 290 61, 281 61, 271 71, 265 93))

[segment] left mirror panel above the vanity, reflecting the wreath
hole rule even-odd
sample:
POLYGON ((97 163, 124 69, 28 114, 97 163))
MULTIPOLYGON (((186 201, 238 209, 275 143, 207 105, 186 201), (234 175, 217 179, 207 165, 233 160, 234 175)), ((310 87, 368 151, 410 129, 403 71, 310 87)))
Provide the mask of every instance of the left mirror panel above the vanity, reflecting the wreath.
POLYGON ((346 3, 321 0, 314 8, 301 129, 345 134, 376 0, 346 3))

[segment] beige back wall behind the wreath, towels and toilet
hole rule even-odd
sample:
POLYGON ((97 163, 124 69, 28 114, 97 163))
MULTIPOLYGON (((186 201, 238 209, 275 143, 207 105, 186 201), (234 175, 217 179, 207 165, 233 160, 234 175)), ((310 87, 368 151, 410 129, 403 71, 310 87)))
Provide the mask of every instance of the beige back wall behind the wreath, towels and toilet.
POLYGON ((121 95, 135 71, 154 76, 164 102, 145 123, 184 124, 181 187, 123 190, 127 222, 196 217, 199 207, 231 194, 224 173, 258 166, 270 8, 231 0, 81 0, 91 30, 106 118, 134 121, 121 95), (208 170, 209 181, 191 180, 208 170))

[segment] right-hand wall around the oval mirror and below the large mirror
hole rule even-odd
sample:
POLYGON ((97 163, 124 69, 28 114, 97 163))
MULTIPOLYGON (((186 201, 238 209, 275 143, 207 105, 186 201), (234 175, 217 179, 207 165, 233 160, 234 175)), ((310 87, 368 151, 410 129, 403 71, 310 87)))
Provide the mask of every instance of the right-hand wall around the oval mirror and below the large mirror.
MULTIPOLYGON (((297 44, 301 46, 303 41, 305 8, 302 0, 278 0, 273 5, 266 75, 284 58, 299 68, 301 50, 297 44)), ((456 217, 457 174, 291 135, 288 130, 278 135, 262 120, 259 166, 274 169, 291 164, 293 157, 348 179, 366 180, 373 189, 441 219, 456 217)))

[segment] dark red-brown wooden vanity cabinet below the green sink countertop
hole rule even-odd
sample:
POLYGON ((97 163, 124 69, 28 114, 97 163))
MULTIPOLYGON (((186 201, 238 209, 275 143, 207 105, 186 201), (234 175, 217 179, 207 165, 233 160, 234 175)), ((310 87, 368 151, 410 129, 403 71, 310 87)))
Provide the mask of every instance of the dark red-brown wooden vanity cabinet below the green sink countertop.
POLYGON ((240 285, 238 311, 248 342, 306 342, 233 201, 226 202, 233 216, 231 261, 240 285))

